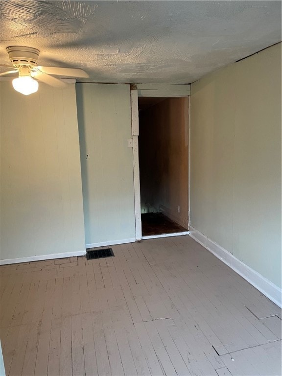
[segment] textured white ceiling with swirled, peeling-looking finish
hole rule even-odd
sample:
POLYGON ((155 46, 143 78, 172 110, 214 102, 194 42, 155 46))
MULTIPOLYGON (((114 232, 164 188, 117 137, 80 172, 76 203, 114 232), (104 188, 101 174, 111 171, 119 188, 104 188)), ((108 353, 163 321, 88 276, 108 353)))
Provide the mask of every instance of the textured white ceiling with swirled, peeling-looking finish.
MULTIPOLYGON (((5 47, 114 83, 190 83, 281 41, 281 1, 0 1, 5 47)), ((3 69, 1 71, 4 71, 3 69)))

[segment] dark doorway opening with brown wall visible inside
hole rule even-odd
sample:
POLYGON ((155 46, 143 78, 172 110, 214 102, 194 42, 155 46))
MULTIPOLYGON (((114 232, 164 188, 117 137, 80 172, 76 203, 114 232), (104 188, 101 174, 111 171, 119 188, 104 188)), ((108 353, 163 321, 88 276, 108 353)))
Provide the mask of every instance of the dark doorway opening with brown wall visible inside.
POLYGON ((188 97, 139 97, 142 238, 188 234, 188 97))

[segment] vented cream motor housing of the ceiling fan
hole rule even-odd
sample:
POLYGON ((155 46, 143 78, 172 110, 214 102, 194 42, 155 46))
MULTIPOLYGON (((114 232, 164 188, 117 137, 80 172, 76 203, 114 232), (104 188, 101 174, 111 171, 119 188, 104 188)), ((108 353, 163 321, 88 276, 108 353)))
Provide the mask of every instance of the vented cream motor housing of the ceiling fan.
POLYGON ((6 48, 9 60, 15 68, 23 65, 34 67, 38 64, 39 50, 32 47, 10 46, 6 48))

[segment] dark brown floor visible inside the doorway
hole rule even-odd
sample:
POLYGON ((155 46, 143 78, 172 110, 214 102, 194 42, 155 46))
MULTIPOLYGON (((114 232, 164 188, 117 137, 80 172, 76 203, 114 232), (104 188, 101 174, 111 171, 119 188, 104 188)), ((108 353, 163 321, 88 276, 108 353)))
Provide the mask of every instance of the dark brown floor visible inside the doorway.
POLYGON ((187 231, 163 213, 143 213, 141 214, 141 222, 142 236, 175 234, 187 231))

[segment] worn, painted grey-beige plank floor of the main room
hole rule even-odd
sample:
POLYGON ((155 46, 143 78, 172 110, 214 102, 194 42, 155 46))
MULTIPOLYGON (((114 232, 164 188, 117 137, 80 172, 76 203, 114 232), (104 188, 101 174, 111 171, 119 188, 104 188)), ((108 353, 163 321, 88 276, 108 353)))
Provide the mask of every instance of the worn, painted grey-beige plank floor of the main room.
POLYGON ((1 266, 6 375, 281 375, 281 309, 189 236, 1 266))

